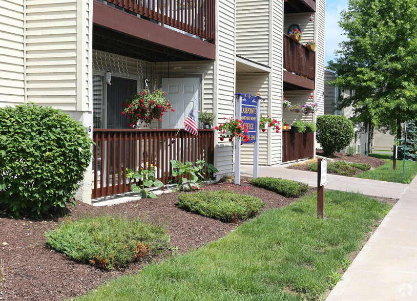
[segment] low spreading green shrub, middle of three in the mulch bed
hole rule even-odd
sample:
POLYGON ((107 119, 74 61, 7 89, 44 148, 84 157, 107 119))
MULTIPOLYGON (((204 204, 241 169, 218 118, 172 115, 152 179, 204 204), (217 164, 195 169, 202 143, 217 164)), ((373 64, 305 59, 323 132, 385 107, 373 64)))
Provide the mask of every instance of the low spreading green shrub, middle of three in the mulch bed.
POLYGON ((178 196, 178 207, 201 214, 207 218, 223 222, 236 222, 247 219, 259 212, 265 204, 252 196, 240 195, 232 191, 199 191, 181 193, 178 196))

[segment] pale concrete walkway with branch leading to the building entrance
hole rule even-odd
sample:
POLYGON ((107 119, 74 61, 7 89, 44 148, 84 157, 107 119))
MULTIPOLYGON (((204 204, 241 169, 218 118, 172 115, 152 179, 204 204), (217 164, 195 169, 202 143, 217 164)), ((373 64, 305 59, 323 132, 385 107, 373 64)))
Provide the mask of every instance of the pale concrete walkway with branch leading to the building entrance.
MULTIPOLYGON (((242 165, 241 175, 252 170, 242 165)), ((317 187, 317 174, 309 171, 260 167, 259 176, 317 187)), ((417 300, 417 177, 406 185, 327 175, 325 189, 399 199, 326 300, 417 300)))

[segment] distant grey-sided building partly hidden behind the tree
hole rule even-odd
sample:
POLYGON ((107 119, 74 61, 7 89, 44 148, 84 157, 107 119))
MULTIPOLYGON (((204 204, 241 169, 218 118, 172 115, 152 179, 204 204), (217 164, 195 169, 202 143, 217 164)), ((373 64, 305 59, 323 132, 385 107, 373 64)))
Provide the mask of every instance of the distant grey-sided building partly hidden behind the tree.
MULTIPOLYGON (((335 80, 337 74, 335 71, 325 69, 324 79, 325 81, 335 80)), ((353 107, 344 107, 342 110, 337 110, 338 99, 347 98, 351 96, 354 91, 341 91, 338 87, 324 84, 324 114, 342 115, 344 117, 353 116, 353 107)), ((361 155, 367 155, 369 152, 369 126, 363 126, 362 122, 354 124, 355 137, 350 143, 350 147, 355 147, 355 153, 361 155)), ((346 150, 346 149, 345 149, 346 150)))

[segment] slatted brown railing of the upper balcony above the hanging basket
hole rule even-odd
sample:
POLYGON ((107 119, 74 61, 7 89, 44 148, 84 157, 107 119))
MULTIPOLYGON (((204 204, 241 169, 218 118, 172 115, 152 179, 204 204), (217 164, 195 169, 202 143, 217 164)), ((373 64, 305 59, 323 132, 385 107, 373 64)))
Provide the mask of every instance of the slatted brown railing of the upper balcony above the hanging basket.
POLYGON ((130 12, 137 13, 209 41, 214 39, 215 0, 106 1, 130 12))

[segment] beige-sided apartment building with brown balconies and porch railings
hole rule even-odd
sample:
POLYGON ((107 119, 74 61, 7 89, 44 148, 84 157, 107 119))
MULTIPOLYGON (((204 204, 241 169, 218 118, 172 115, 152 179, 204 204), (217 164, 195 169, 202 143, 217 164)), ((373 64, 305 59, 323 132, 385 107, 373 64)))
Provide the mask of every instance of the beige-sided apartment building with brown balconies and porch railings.
MULTIPOLYGON (((122 171, 157 165, 169 179, 169 159, 213 162, 218 177, 233 174, 233 142, 212 130, 198 138, 176 128, 194 107, 215 123, 234 116, 234 94, 261 93, 261 110, 279 121, 314 120, 324 110, 324 0, 0 0, 0 106, 34 102, 69 113, 91 131, 93 164, 77 199, 130 190, 122 171), (185 3, 185 5, 184 5, 185 3), (288 37, 299 27, 309 51, 288 37), (145 88, 167 92, 176 111, 150 130, 126 130, 120 104, 145 88), (108 84, 110 82, 111 84, 108 84), (291 103, 318 103, 318 112, 283 110, 291 103), (177 133, 177 134, 176 134, 177 133), (93 185, 93 188, 91 188, 93 185)), ((196 114, 197 117, 197 114, 196 114)), ((314 156, 288 132, 262 133, 260 164, 314 156), (291 140, 292 139, 292 140, 291 140), (292 145, 292 146, 291 146, 292 145), (297 145, 300 150, 293 152, 297 145)), ((253 162, 243 145, 242 163, 253 162)))

